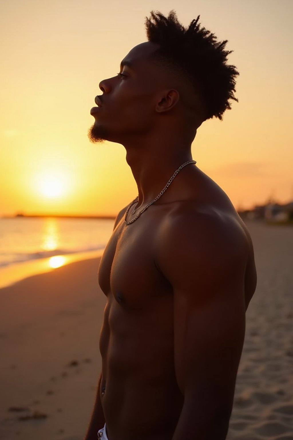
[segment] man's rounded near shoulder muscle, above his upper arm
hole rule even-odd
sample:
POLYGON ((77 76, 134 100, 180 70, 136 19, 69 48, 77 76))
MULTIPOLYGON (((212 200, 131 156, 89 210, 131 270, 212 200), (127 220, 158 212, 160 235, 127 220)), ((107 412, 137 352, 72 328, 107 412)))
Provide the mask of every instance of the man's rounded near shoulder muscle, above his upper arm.
POLYGON ((220 290, 242 292, 250 259, 249 240, 241 222, 211 207, 192 209, 189 205, 170 213, 156 241, 155 263, 165 278, 191 295, 196 279, 196 289, 202 286, 206 299, 220 290))

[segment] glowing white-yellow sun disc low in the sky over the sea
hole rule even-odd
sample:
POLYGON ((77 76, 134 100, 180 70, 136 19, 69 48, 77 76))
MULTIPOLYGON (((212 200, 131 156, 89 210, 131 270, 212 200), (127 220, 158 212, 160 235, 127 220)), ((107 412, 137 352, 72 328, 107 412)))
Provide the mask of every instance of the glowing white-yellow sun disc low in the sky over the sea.
POLYGON ((57 170, 42 172, 38 177, 38 190, 47 198, 58 198, 67 192, 66 175, 57 170))

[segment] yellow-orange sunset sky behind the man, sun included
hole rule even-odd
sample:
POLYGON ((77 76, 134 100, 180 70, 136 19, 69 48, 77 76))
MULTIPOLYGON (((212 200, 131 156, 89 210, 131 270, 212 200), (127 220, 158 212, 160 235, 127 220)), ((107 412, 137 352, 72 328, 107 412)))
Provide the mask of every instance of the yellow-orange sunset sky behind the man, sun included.
POLYGON ((234 52, 239 103, 193 143, 236 208, 293 198, 292 0, 10 0, 0 3, 0 215, 116 214, 137 195, 121 145, 94 145, 101 79, 145 41, 152 9, 177 11, 234 52))

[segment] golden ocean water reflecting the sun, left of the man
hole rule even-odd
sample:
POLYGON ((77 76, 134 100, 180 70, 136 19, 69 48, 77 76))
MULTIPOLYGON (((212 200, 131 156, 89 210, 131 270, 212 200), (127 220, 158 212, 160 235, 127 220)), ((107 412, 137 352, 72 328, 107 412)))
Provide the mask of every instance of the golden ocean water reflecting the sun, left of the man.
POLYGON ((114 220, 0 219, 0 268, 55 255, 104 249, 114 220))

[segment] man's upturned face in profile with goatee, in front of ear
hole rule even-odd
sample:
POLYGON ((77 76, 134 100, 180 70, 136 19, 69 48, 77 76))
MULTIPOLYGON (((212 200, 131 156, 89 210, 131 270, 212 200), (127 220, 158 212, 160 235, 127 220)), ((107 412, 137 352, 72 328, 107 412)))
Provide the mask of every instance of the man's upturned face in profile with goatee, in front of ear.
POLYGON ((102 95, 95 98, 98 107, 90 110, 95 119, 89 130, 92 142, 123 143, 129 136, 151 130, 156 91, 163 79, 151 59, 157 48, 150 42, 139 44, 122 60, 118 75, 101 81, 102 95))

